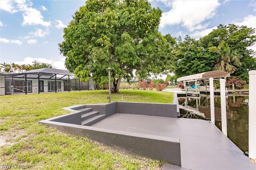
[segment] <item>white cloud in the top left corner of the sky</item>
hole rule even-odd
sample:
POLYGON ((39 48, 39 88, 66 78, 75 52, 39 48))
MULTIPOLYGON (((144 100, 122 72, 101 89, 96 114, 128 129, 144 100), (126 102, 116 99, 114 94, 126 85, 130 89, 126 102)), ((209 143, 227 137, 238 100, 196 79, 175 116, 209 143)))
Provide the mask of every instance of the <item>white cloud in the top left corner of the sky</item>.
POLYGON ((29 0, 1 0, 0 9, 5 10, 10 13, 15 13, 18 11, 23 12, 23 22, 22 25, 42 25, 49 27, 51 25, 50 21, 44 21, 44 17, 41 12, 32 8, 32 2, 29 0))

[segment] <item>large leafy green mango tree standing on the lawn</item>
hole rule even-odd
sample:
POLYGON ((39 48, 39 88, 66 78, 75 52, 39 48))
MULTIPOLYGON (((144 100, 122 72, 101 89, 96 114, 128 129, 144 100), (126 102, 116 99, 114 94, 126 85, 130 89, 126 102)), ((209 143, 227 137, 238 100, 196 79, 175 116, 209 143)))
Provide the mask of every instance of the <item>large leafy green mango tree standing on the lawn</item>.
POLYGON ((66 68, 81 80, 90 76, 99 84, 108 83, 118 92, 122 78, 129 80, 171 68, 170 35, 158 31, 162 11, 147 0, 87 0, 64 28, 60 53, 66 68))

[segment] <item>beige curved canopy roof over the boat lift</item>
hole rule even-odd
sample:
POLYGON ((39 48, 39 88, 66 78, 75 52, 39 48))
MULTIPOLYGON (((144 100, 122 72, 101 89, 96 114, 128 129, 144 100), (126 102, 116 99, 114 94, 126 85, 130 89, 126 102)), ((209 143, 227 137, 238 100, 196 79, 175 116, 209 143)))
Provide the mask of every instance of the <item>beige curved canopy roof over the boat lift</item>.
POLYGON ((193 74, 189 76, 180 77, 177 79, 177 81, 186 81, 186 80, 206 80, 209 78, 222 78, 222 77, 229 77, 230 74, 228 72, 224 71, 208 71, 208 72, 202 72, 199 74, 193 74))

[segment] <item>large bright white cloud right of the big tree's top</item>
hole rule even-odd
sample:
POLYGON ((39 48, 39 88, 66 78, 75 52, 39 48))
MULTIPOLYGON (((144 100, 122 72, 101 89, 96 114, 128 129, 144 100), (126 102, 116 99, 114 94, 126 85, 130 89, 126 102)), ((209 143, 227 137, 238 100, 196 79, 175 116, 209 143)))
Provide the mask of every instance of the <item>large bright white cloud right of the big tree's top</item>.
POLYGON ((202 25, 202 22, 212 18, 216 14, 216 8, 219 5, 218 0, 175 0, 172 2, 172 9, 162 14, 160 27, 182 24, 189 31, 204 29, 207 24, 202 25))

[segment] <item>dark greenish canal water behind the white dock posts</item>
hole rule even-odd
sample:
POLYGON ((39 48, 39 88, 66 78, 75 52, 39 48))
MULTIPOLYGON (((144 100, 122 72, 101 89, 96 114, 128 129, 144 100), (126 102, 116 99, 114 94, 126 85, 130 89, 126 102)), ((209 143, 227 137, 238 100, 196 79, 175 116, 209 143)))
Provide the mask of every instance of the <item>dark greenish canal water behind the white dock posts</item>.
MULTIPOLYGON (((210 95, 179 97, 180 117, 210 120, 210 95)), ((221 130, 220 96, 214 96, 215 125, 221 130)), ((248 151, 248 96, 227 96, 228 138, 243 152, 248 151)))

